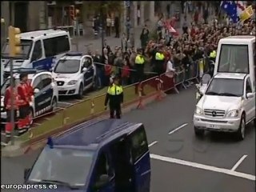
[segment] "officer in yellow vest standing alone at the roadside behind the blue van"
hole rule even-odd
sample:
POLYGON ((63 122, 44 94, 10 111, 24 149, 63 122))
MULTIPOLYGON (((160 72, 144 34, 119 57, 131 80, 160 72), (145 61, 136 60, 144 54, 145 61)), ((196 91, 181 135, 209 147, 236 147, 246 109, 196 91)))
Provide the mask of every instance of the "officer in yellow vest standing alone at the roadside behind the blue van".
POLYGON ((121 118, 121 106, 123 102, 122 86, 119 85, 119 78, 114 77, 114 82, 108 87, 105 98, 105 110, 109 102, 110 106, 110 118, 121 118))

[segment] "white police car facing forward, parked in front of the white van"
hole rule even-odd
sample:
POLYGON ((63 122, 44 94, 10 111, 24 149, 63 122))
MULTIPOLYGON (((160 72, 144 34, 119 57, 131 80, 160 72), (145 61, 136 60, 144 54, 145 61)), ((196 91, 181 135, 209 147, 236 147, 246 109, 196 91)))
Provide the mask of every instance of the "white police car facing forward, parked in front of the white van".
POLYGON ((95 89, 96 67, 90 55, 67 53, 59 59, 52 73, 58 85, 58 95, 82 98, 85 90, 95 89))

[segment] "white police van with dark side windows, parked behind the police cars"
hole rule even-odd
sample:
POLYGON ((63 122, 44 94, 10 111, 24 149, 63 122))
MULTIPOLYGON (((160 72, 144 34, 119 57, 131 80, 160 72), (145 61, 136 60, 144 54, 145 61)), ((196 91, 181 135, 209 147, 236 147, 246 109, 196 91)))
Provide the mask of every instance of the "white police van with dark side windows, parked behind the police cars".
MULTIPOLYGON (((70 51, 70 34, 65 30, 36 30, 21 35, 22 53, 14 59, 14 69, 51 70, 54 62, 70 51)), ((4 77, 10 76, 9 40, 2 49, 1 65, 4 77)))

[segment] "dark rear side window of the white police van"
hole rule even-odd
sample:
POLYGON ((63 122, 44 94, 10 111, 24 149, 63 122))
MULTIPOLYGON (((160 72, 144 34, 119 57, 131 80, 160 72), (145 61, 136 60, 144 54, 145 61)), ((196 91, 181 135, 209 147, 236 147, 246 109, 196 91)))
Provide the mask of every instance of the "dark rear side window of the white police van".
POLYGON ((62 35, 56 38, 46 38, 43 40, 43 44, 46 51, 46 58, 70 50, 70 42, 67 35, 62 35))

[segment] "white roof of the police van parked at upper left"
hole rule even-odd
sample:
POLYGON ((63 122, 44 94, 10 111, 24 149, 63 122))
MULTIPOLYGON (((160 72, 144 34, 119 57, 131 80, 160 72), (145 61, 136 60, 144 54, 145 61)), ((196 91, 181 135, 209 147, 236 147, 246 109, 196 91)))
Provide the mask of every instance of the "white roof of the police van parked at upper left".
POLYGON ((21 34, 22 39, 37 39, 42 38, 42 36, 58 36, 68 34, 66 30, 34 30, 26 33, 21 34))

